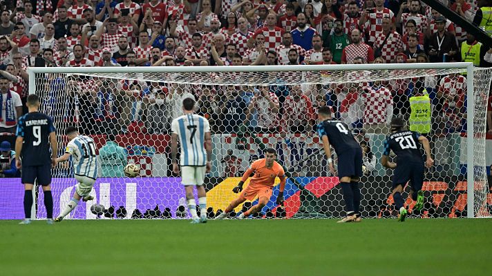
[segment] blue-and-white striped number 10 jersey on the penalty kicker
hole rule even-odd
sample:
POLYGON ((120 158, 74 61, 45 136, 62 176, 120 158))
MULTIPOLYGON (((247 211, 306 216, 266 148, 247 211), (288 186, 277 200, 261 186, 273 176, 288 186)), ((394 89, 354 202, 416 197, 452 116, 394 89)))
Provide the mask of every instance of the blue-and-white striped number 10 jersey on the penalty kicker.
POLYGON ((65 152, 72 155, 75 175, 97 179, 97 156, 94 140, 91 137, 78 135, 68 142, 65 152))

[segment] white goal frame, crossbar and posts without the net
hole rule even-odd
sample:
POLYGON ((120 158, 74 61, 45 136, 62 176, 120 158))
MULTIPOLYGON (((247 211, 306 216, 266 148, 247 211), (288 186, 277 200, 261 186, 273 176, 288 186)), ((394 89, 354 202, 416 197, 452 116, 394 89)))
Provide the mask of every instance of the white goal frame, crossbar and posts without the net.
MULTIPOLYGON (((180 73, 180 72, 306 72, 306 71, 347 71, 347 70, 425 70, 425 69, 462 69, 466 70, 466 110, 475 109, 474 87, 473 87, 473 63, 450 62, 450 63, 370 63, 370 64, 327 64, 310 66, 155 66, 155 67, 30 67, 29 94, 35 94, 36 74, 41 73, 65 73, 65 74, 91 74, 91 73, 180 73)), ((466 132, 475 133, 474 113, 467 112, 466 132)), ((466 135, 466 180, 467 180, 467 217, 475 217, 475 191, 474 191, 474 168, 475 165, 486 166, 486 164, 475 164, 473 159, 473 141, 475 135, 466 135)), ((33 197, 35 193, 33 190, 33 197)), ((33 209, 35 204, 33 204, 33 209)), ((32 210, 35 219, 35 210, 32 210)))

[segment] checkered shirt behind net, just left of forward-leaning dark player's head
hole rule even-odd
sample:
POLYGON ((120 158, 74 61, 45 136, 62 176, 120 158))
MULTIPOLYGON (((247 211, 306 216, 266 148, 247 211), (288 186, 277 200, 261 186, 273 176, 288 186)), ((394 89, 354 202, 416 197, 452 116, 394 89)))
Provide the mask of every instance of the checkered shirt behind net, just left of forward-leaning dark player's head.
POLYGON ((301 95, 299 101, 294 101, 294 97, 287 96, 283 103, 284 118, 289 126, 301 126, 313 119, 312 102, 306 95, 301 95))

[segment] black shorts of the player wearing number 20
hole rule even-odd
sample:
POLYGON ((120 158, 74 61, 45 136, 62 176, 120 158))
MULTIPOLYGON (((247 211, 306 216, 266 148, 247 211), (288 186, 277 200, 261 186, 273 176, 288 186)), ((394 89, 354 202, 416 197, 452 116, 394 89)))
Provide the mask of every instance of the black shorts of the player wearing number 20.
POLYGON ((405 186, 406 182, 410 181, 410 188, 416 192, 422 190, 424 183, 424 163, 422 162, 406 162, 398 164, 393 175, 392 188, 397 186, 405 186))

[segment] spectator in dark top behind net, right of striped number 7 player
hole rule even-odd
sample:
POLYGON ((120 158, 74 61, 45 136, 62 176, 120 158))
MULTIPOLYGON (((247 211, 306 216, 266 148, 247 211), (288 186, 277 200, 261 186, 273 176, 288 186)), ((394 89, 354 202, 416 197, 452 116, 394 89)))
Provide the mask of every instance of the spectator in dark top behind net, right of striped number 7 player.
POLYGON ((227 99, 218 107, 218 114, 222 122, 219 130, 224 133, 236 133, 246 117, 246 102, 239 96, 239 89, 227 86, 227 99))

